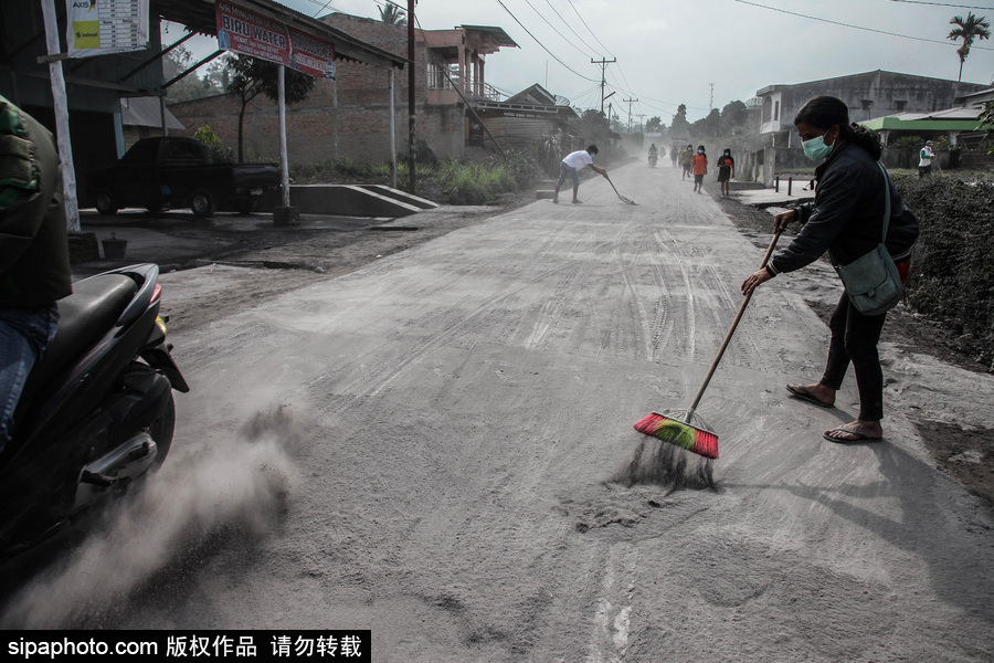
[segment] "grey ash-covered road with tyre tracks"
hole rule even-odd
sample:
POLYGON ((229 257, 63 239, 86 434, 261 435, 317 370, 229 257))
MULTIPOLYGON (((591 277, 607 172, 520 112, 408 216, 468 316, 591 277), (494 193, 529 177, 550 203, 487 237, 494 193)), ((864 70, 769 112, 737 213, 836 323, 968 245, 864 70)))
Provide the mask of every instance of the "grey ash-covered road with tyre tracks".
POLYGON ((612 180, 639 206, 598 178, 176 335, 155 498, 23 614, 372 629, 398 662, 991 660, 990 512, 898 412, 824 441, 852 379, 839 410, 786 398, 827 340, 790 276, 700 404, 718 490, 654 483, 632 424, 687 406, 762 250, 677 169, 612 180))

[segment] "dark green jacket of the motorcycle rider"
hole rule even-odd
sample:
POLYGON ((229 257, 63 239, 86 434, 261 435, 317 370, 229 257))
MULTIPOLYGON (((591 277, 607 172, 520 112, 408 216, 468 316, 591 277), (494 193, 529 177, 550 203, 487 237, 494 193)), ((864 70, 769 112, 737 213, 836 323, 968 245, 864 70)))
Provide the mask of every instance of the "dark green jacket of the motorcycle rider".
POLYGON ((0 307, 71 294, 62 169, 52 134, 0 96, 0 307))

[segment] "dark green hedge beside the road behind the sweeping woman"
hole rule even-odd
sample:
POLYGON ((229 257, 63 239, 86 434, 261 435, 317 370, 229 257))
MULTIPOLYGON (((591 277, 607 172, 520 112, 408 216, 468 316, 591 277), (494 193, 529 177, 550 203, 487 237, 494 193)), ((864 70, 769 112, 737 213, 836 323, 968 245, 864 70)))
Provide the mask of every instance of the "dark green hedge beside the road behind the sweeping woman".
POLYGON ((963 349, 994 369, 994 182, 896 178, 920 227, 911 306, 945 320, 963 349))

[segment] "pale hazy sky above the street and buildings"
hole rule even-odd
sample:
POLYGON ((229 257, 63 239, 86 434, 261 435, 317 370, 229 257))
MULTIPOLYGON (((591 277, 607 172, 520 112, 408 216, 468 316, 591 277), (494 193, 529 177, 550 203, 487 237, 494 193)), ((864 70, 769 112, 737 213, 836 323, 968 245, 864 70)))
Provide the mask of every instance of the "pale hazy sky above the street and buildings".
MULTIPOLYGON (((315 17, 379 18, 384 0, 277 1, 315 17)), ((601 104, 601 66, 591 60, 616 60, 605 70, 604 94, 614 92, 605 110, 613 104, 622 123, 631 110, 633 124, 644 115, 668 125, 679 104, 694 122, 773 84, 878 69, 954 81, 959 43, 947 39, 950 19, 973 12, 994 23, 994 0, 961 1, 420 0, 415 24, 503 28, 520 48, 487 56, 487 83, 507 94, 539 83, 580 108, 601 104)), ((216 42, 189 43, 207 54, 216 42)), ((963 81, 992 77, 994 40, 974 41, 963 81)))

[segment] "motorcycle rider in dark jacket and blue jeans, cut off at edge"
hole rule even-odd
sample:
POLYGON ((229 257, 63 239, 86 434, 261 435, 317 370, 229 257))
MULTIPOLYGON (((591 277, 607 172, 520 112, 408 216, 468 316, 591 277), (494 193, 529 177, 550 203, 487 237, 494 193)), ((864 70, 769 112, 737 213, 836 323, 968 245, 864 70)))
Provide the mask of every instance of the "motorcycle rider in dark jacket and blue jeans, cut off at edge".
POLYGON ((72 293, 62 171, 52 134, 0 96, 0 450, 28 373, 72 293))

